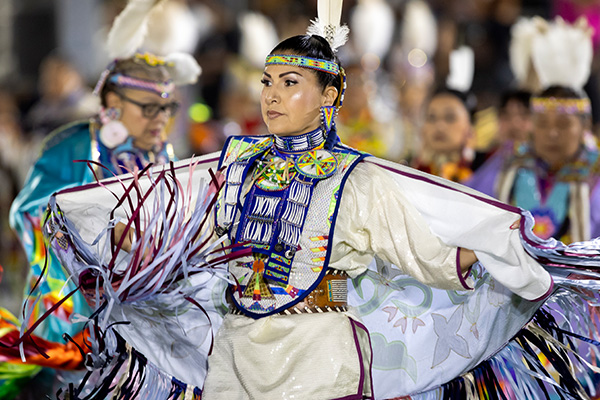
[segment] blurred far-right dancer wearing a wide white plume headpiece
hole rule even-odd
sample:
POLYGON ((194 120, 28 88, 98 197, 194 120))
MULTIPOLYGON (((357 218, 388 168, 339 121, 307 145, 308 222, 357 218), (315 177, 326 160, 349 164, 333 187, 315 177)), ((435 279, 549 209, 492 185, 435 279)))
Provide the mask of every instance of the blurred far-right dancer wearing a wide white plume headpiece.
POLYGON ((529 210, 542 238, 590 240, 600 235, 600 209, 593 206, 600 186, 591 103, 582 90, 591 68, 589 27, 559 18, 529 24, 535 27, 532 67, 541 84, 531 99, 532 134, 501 169, 483 168, 470 186, 493 187, 489 194, 529 210))

